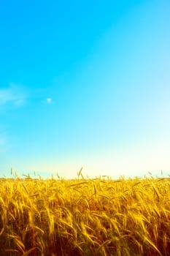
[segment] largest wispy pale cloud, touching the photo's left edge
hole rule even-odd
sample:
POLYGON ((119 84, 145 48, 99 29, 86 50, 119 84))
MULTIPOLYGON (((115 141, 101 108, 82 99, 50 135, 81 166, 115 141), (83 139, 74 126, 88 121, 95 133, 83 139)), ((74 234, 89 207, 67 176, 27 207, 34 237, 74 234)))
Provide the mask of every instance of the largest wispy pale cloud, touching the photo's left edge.
POLYGON ((27 94, 23 86, 9 83, 8 88, 0 89, 0 105, 12 105, 18 107, 26 102, 27 94))

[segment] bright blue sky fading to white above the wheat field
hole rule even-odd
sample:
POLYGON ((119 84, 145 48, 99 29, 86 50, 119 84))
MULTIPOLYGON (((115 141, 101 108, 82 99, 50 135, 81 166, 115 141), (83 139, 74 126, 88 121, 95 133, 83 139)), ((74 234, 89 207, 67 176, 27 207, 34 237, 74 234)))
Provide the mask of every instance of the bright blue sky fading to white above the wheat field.
POLYGON ((0 4, 0 175, 170 174, 170 1, 0 4))

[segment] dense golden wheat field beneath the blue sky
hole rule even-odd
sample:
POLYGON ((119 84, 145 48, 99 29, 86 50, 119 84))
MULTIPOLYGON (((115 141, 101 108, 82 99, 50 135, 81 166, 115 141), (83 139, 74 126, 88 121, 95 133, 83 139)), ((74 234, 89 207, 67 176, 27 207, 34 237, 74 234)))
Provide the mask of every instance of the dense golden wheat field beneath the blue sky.
POLYGON ((170 255, 170 180, 0 180, 0 255, 170 255))

